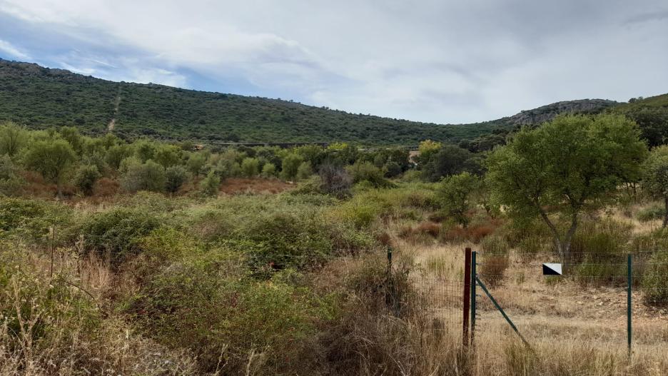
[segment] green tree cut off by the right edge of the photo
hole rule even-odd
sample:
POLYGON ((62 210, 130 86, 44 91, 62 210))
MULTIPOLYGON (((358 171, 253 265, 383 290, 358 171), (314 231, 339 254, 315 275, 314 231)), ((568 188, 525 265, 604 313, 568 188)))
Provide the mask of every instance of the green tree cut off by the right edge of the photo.
POLYGON ((642 188, 664 202, 663 227, 668 225, 668 146, 652 149, 642 165, 642 188))

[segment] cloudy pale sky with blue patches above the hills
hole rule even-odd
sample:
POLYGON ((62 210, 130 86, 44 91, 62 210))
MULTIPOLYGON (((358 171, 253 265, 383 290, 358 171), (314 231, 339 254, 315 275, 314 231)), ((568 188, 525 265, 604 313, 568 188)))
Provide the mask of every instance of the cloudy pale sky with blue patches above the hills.
POLYGON ((668 93, 668 1, 0 0, 0 57, 471 123, 668 93))

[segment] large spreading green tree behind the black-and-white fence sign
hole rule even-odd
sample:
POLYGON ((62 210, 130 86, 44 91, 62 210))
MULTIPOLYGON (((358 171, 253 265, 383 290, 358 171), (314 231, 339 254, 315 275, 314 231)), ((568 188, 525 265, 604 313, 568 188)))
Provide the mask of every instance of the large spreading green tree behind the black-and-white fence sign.
POLYGON ((559 116, 522 128, 487 158, 492 194, 520 218, 542 218, 562 260, 584 210, 599 208, 647 156, 637 125, 620 115, 559 116), (549 210, 550 208, 551 210, 549 210), (567 218, 565 230, 553 214, 567 218))

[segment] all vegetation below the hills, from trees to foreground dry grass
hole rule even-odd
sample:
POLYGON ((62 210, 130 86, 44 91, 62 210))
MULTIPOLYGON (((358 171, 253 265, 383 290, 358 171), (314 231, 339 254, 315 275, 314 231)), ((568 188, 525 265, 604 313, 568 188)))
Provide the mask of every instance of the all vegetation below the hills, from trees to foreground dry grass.
POLYGON ((558 116, 415 165, 1 124, 0 376, 665 375, 668 146, 640 134, 558 116), (485 296, 462 345, 465 247, 531 348, 485 296))

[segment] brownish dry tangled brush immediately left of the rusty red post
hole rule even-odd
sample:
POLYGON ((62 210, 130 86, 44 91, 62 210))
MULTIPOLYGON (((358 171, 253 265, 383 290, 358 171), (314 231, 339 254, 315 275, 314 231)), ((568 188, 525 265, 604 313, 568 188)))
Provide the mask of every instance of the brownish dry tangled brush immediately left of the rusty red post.
MULTIPOLYGON (((406 269, 401 264, 411 262, 399 256, 396 263, 395 278, 402 278, 406 269)), ((401 314, 388 306, 383 264, 382 257, 366 256, 338 270, 338 277, 345 275, 348 295, 341 315, 328 324, 320 341, 330 374, 471 375, 460 328, 444 329, 408 280, 395 285, 404 289, 401 314)))

